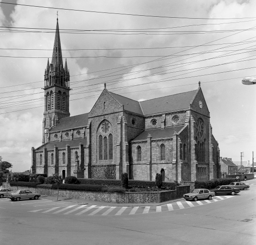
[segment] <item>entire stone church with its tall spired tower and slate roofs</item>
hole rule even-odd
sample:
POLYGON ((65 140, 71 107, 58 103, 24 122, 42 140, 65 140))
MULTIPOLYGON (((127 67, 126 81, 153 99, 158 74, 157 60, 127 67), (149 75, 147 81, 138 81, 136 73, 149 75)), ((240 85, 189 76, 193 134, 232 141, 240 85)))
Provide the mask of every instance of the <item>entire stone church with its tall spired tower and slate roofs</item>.
POLYGON ((70 74, 63 67, 57 19, 51 64, 44 74, 42 145, 32 147, 31 172, 63 178, 195 181, 219 177, 219 146, 199 86, 135 101, 106 88, 91 111, 70 116, 70 74))

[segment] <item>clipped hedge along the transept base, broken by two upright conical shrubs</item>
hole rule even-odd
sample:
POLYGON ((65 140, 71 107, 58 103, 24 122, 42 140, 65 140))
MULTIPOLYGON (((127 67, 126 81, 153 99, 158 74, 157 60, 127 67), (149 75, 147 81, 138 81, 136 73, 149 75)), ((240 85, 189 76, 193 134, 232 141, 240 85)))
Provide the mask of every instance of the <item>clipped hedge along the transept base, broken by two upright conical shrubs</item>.
MULTIPOLYGON (((105 185, 105 186, 122 186, 120 179, 98 179, 98 178, 78 178, 81 184, 90 185, 105 185)), ((148 180, 134 180, 129 179, 128 185, 134 188, 155 188, 155 181, 148 180)), ((170 190, 175 190, 177 183, 175 182, 163 182, 163 187, 170 190)))

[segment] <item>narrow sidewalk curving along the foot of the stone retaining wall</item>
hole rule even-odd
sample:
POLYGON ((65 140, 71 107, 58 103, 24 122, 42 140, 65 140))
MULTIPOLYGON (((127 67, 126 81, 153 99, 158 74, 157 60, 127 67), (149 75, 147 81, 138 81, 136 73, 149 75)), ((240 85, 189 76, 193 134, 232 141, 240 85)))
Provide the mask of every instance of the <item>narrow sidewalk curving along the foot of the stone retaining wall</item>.
MULTIPOLYGON (((57 197, 53 197, 53 196, 41 196, 40 198, 57 201, 57 197)), ((59 197, 59 200, 60 201, 77 202, 78 204, 81 204, 81 205, 82 204, 93 204, 93 205, 102 205, 102 206, 111 206, 111 207, 113 207, 113 206, 116 206, 116 207, 120 207, 120 206, 125 206, 125 207, 150 206, 151 207, 151 206, 160 206, 163 204, 180 201, 180 200, 184 200, 184 199, 180 198, 180 199, 169 200, 169 201, 164 201, 164 202, 160 202, 160 203, 156 203, 156 202, 151 202, 151 203, 115 203, 115 202, 105 202, 105 201, 73 199, 73 198, 66 198, 66 197, 59 197)))

